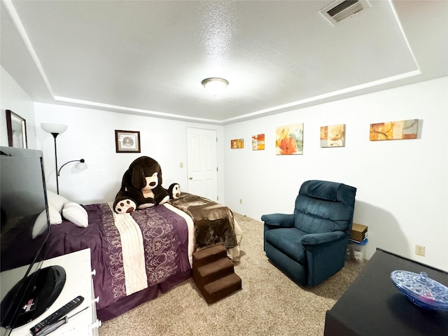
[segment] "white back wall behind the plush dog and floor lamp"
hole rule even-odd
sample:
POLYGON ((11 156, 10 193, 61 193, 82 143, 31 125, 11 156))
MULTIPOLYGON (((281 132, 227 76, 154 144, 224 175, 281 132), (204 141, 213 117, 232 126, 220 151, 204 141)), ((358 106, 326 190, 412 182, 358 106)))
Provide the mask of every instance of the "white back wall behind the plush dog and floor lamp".
MULTIPOLYGON (((163 186, 181 184, 188 191, 187 127, 217 130, 223 138, 223 127, 165 120, 148 116, 133 116, 97 109, 35 104, 38 147, 43 150, 45 178, 50 190, 56 190, 55 150, 51 134, 43 131, 41 123, 68 125, 57 137, 58 167, 70 160, 85 159, 88 169, 76 172, 67 165, 59 176, 59 193, 73 202, 92 204, 111 202, 120 189, 121 179, 130 163, 141 155, 157 160, 162 167, 163 186), (139 131, 141 153, 116 153, 115 130, 139 131), (183 168, 180 163, 183 162, 183 168)), ((218 183, 223 185, 223 151, 218 145, 218 183)), ((224 190, 218 191, 224 202, 224 190)))

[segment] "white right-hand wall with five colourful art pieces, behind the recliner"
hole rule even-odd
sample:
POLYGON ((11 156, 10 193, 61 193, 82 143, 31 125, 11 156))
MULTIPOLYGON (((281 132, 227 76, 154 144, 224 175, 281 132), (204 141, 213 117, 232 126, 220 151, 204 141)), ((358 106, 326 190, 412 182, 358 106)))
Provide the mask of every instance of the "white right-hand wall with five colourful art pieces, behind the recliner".
POLYGON ((346 183, 358 188, 354 221, 369 227, 367 258, 379 247, 448 269, 447 92, 445 77, 225 126, 226 205, 290 214, 303 181, 346 183), (413 118, 420 139, 369 141, 370 123, 413 118), (303 155, 275 155, 276 126, 292 123, 304 123, 303 155), (335 124, 346 124, 346 146, 321 148, 320 127, 335 124), (252 151, 263 133, 265 151, 252 151), (241 138, 245 148, 230 149, 241 138))

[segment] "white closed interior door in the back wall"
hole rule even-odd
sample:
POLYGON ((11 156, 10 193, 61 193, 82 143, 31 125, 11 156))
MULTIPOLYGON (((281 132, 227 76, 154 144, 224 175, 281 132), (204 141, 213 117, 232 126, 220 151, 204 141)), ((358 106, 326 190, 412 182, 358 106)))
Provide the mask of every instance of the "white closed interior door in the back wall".
POLYGON ((216 130, 187 128, 188 193, 218 201, 216 130))

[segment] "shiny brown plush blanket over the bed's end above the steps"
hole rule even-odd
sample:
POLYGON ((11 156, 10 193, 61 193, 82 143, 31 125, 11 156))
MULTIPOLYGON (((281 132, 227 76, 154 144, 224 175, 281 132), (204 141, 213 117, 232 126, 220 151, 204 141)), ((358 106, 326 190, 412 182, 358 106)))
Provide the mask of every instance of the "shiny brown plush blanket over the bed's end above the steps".
POLYGON ((189 193, 182 193, 178 200, 169 200, 169 203, 193 218, 197 248, 216 244, 227 248, 237 246, 235 221, 228 207, 189 193))

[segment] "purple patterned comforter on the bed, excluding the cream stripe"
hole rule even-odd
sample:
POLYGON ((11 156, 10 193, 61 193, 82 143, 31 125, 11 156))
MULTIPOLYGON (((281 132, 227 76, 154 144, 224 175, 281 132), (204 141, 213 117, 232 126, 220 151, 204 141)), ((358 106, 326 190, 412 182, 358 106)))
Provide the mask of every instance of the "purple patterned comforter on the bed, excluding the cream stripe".
MULTIPOLYGON (((148 288, 127 295, 120 234, 108 204, 83 206, 89 216, 87 228, 69 221, 52 225, 48 258, 90 248, 94 293, 99 297, 98 317, 103 321, 123 314, 188 279, 188 228, 186 221, 166 207, 134 211, 144 239, 148 288)), ((118 215, 125 216, 125 215, 118 215)))

